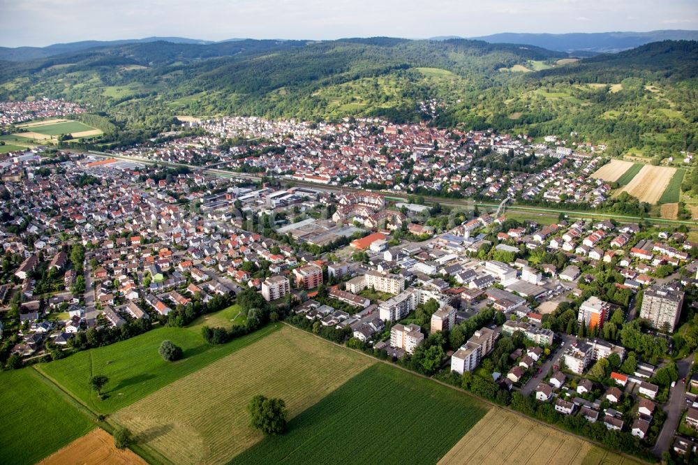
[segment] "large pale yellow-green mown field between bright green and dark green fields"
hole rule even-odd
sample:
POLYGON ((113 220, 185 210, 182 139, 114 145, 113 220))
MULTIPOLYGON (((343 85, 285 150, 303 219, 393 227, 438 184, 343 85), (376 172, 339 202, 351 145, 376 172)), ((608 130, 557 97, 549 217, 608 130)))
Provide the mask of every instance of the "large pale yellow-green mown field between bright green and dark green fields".
MULTIPOLYGON (((281 397, 293 418, 375 363, 284 326, 112 418, 131 429, 144 448, 153 448, 175 464, 218 464, 262 440, 259 431, 248 427, 246 412, 256 394, 281 397)), ((364 426, 357 424, 358 429, 364 426)))

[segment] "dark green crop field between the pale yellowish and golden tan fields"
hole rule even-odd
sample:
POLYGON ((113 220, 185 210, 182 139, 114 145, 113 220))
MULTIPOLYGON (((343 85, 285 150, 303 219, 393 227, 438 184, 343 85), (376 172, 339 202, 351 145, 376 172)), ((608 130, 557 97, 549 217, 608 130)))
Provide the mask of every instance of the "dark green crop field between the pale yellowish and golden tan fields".
POLYGON ((487 413, 473 397, 378 363, 232 464, 436 463, 487 413))

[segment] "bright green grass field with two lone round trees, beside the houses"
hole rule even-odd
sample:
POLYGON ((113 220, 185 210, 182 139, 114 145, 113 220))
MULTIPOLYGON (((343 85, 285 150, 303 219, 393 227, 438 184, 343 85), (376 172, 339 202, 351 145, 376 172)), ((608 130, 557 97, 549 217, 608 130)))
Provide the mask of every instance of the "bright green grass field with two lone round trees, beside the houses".
POLYGON ((38 365, 38 369, 70 391, 98 413, 112 413, 205 367, 230 353, 253 344, 274 332, 274 326, 239 337, 228 344, 211 346, 198 332, 188 328, 158 327, 140 336, 110 346, 83 350, 61 360, 38 365), (158 348, 170 339, 184 350, 184 359, 165 362, 158 348), (89 378, 103 374, 109 378, 99 400, 89 388, 89 378))

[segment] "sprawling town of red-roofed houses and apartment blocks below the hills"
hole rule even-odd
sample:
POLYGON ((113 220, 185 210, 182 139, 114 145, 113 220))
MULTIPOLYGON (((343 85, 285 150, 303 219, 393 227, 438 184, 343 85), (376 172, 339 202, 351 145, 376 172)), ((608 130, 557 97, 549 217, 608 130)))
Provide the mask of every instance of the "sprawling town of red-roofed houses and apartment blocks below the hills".
POLYGON ((697 450, 689 228, 507 210, 510 198, 611 200, 590 176, 606 147, 369 119, 192 128, 205 134, 3 156, 6 367, 234 302, 249 324, 258 309, 243 302, 262 299, 272 321, 611 449, 697 450))

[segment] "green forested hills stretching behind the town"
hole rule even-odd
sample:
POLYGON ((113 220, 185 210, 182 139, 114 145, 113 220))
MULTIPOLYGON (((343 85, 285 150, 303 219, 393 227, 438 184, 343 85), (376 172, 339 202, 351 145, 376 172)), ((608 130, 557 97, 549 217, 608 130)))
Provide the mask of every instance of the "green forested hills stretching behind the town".
POLYGON ((174 115, 335 120, 378 116, 441 126, 580 133, 639 150, 692 149, 698 43, 664 41, 572 59, 480 40, 348 38, 129 43, 0 64, 0 100, 48 96, 138 140, 174 115), (438 116, 419 102, 438 102, 438 116))

